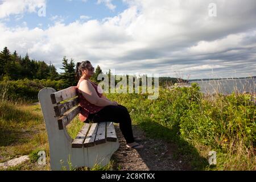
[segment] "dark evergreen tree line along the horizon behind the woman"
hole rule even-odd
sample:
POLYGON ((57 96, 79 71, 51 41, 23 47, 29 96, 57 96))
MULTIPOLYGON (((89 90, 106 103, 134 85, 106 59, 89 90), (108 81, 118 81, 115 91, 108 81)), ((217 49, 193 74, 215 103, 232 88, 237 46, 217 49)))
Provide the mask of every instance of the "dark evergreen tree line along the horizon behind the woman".
MULTIPOLYGON (((24 78, 28 78, 30 80, 63 80, 67 86, 72 86, 77 84, 75 66, 75 61, 73 59, 69 61, 67 57, 64 56, 62 60, 62 68, 60 68, 63 72, 58 73, 53 64, 47 64, 45 61, 30 59, 28 53, 26 56, 21 57, 16 51, 11 53, 9 49, 5 47, 3 48, 3 51, 0 52, 0 81, 22 80, 24 78)), ((94 82, 100 82, 97 80, 97 77, 101 73, 102 70, 98 65, 91 80, 94 82)), ((110 69, 109 72, 106 72, 106 75, 110 78, 112 75, 110 69)), ((160 77, 159 85, 172 85, 178 81, 179 80, 177 80, 177 78, 160 77)), ((117 82, 118 81, 115 81, 115 84, 117 84, 117 82)))

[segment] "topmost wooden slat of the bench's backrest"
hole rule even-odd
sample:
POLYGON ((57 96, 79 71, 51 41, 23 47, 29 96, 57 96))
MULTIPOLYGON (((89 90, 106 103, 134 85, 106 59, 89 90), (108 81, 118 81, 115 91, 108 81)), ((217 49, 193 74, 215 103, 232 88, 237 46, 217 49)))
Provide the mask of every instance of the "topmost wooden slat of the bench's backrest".
POLYGON ((67 100, 69 98, 77 96, 76 86, 71 86, 67 89, 60 90, 51 94, 52 104, 67 100))

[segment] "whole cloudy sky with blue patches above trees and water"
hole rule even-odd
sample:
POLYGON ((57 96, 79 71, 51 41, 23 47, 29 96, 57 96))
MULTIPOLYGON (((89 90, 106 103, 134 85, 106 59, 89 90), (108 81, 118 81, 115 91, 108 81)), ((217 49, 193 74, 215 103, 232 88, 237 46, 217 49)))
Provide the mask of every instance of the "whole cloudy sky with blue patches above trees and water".
POLYGON ((255 0, 0 0, 0 49, 103 72, 256 76, 255 0))

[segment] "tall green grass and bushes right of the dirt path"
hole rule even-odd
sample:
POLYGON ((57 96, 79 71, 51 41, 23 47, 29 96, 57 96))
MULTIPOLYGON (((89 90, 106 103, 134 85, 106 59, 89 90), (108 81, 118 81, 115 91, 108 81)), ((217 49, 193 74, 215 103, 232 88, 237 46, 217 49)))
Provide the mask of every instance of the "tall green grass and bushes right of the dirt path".
POLYGON ((108 97, 125 105, 148 135, 177 143, 179 154, 190 155, 194 169, 255 167, 256 107, 251 94, 203 94, 193 83, 190 88, 160 89, 159 98, 152 101, 147 94, 108 97), (204 158, 198 158, 193 148, 204 158), (217 151, 213 168, 203 162, 210 150, 217 151))

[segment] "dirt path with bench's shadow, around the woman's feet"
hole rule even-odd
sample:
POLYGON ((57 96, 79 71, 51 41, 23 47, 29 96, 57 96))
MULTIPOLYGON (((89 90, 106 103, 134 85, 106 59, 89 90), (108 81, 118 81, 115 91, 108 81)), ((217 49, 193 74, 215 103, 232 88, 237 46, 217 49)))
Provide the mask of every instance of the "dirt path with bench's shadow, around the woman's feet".
POLYGON ((118 170, 156 170, 156 171, 172 171, 187 170, 189 167, 182 160, 175 160, 173 152, 175 147, 173 144, 163 142, 162 140, 149 139, 138 127, 133 126, 135 137, 141 137, 139 142, 144 145, 142 150, 135 150, 126 147, 125 139, 119 129, 115 126, 120 147, 114 153, 113 159, 114 169, 118 170))

